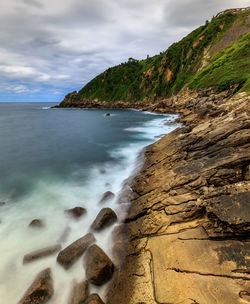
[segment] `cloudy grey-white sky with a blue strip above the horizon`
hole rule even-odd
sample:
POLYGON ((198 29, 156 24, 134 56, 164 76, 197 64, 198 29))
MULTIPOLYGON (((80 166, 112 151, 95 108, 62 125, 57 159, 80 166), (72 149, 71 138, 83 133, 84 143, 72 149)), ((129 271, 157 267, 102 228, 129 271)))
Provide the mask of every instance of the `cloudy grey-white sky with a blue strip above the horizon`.
POLYGON ((1 0, 0 102, 59 102, 249 0, 1 0))

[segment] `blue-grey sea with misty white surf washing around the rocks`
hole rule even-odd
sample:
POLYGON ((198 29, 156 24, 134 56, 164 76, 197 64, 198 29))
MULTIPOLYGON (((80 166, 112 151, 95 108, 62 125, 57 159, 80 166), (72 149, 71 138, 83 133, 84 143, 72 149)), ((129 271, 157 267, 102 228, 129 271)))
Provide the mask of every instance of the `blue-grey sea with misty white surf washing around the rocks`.
MULTIPOLYGON (((84 236, 103 207, 121 219, 117 198, 140 151, 177 126, 174 115, 52 105, 0 103, 0 202, 6 202, 0 207, 0 303, 16 304, 36 274, 50 267, 55 294, 49 303, 66 304, 72 282, 85 277, 82 258, 65 271, 56 255, 25 265, 23 256, 58 243, 64 248, 84 236), (100 205, 106 191, 115 198, 100 205), (64 213, 75 206, 87 209, 79 220, 64 213), (28 227, 35 218, 45 227, 28 227), (68 238, 59 241, 65 230, 68 238)), ((114 227, 95 233, 111 257, 114 227)))

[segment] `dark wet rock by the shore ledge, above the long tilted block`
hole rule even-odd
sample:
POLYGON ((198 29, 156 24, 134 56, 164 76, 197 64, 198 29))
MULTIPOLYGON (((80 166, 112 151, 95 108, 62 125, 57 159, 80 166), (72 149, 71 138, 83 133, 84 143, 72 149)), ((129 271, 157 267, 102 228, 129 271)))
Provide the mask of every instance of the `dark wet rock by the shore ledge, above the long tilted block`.
POLYGON ((103 208, 91 225, 93 230, 99 231, 114 224, 117 220, 116 213, 111 208, 103 208))

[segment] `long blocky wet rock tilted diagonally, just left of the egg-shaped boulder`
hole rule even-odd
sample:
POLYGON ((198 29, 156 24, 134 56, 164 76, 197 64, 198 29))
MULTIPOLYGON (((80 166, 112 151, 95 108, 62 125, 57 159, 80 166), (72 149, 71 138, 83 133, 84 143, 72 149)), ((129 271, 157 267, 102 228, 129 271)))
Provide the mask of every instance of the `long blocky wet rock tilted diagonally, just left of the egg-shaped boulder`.
POLYGON ((57 256, 57 262, 65 269, 68 269, 94 241, 95 237, 92 233, 86 234, 60 251, 57 256))

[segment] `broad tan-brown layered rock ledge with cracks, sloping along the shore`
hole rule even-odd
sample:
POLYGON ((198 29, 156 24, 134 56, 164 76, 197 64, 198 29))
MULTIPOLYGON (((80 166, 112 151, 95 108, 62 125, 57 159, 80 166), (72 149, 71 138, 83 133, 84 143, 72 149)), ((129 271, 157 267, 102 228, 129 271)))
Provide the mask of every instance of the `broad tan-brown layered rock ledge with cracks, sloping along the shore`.
POLYGON ((250 99, 200 91, 171 104, 185 127, 145 153, 107 302, 248 303, 250 99))

